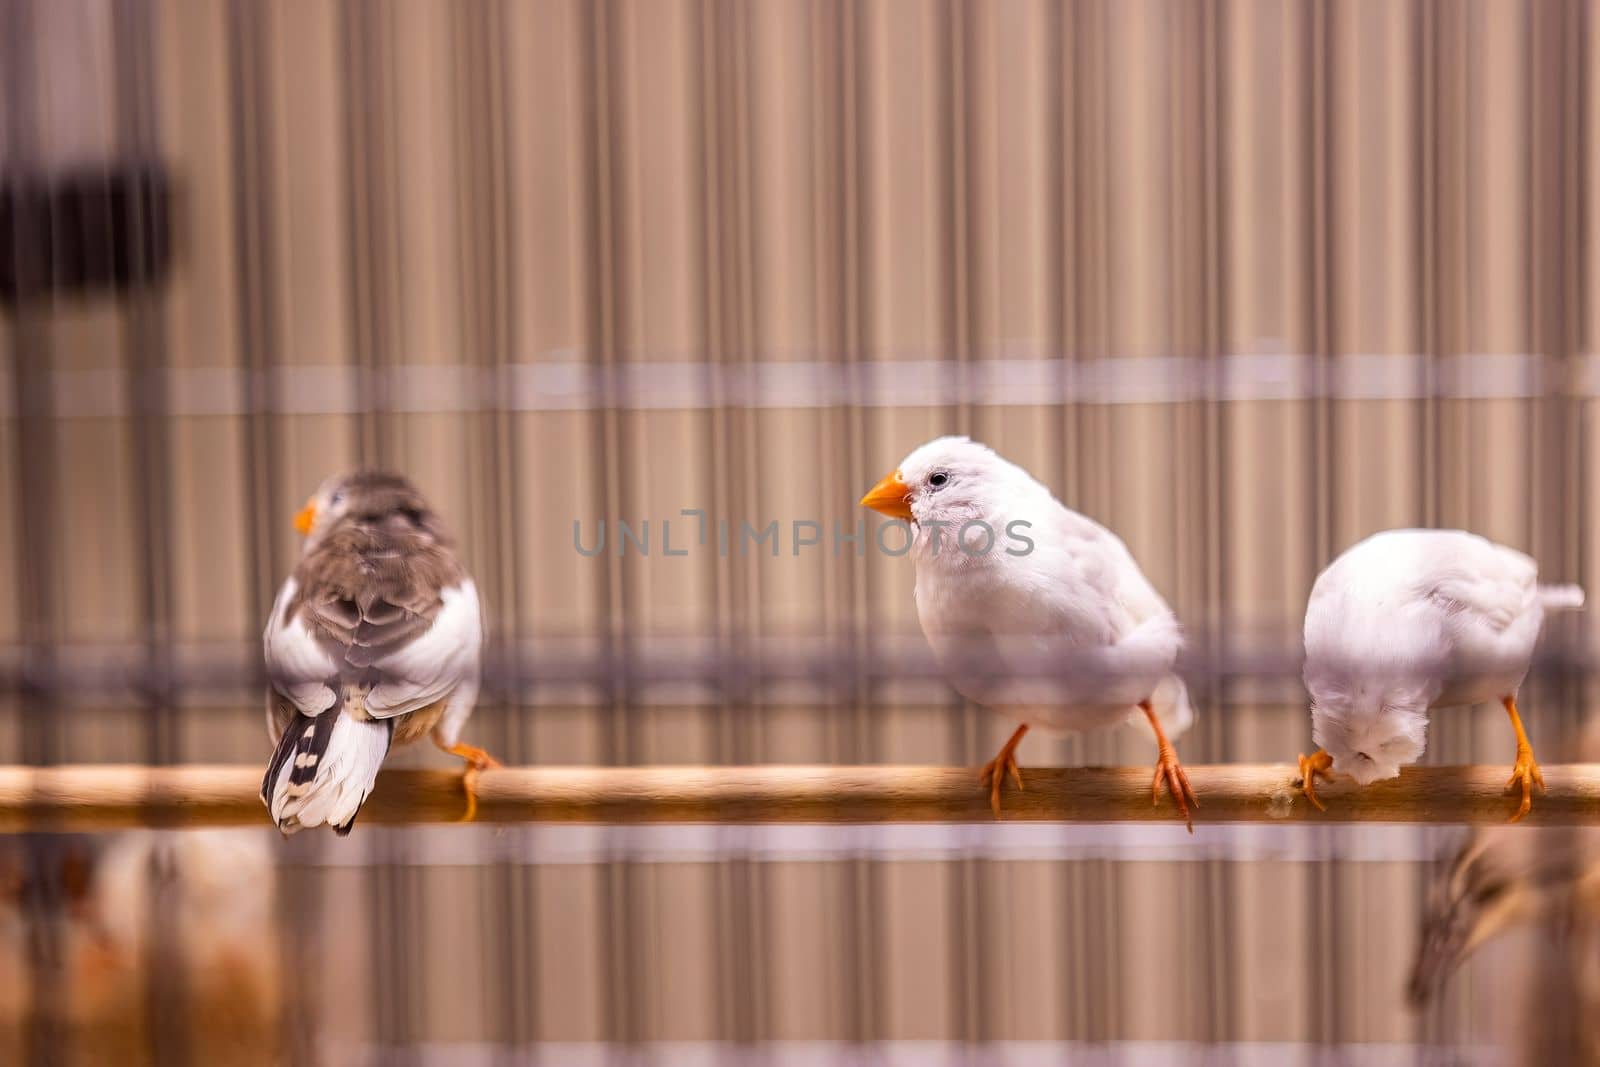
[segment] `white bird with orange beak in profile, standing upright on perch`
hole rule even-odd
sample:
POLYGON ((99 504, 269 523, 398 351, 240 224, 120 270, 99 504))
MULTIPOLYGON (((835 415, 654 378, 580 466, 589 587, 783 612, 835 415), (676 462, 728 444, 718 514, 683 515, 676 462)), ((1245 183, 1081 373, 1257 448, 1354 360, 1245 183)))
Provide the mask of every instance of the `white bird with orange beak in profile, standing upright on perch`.
POLYGON ((1165 785, 1194 832, 1200 801, 1168 737, 1194 721, 1174 673, 1182 630, 1117 534, 966 437, 915 448, 861 504, 912 523, 917 617, 941 670, 1021 723, 979 773, 995 817, 1003 777, 1022 789, 1016 749, 1029 728, 1142 715, 1158 752, 1150 798, 1165 785))

